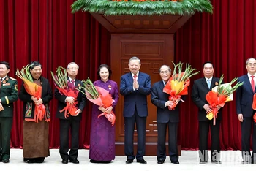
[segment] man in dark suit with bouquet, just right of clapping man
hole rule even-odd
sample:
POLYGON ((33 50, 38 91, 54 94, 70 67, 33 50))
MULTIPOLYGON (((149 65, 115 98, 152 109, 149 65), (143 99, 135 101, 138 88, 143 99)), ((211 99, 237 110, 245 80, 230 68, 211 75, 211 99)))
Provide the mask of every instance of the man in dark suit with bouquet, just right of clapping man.
POLYGON ((163 164, 166 159, 165 137, 168 126, 168 148, 170 161, 173 164, 179 164, 177 145, 177 130, 179 122, 178 105, 174 110, 169 110, 168 107, 171 107, 173 102, 169 101, 170 95, 162 91, 170 78, 170 66, 161 66, 159 74, 162 80, 154 83, 151 91, 151 102, 157 106, 157 163, 163 164))

